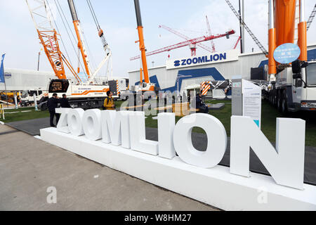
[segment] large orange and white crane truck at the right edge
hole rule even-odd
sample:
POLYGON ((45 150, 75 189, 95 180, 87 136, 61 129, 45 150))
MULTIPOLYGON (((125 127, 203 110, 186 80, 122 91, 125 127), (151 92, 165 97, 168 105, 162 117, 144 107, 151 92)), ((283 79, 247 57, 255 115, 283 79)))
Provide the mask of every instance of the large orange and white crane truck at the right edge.
POLYGON ((308 61, 307 22, 304 0, 269 0, 270 103, 287 111, 316 111, 316 61, 308 61), (297 44, 301 56, 290 64, 279 64, 275 49, 286 43, 297 44))

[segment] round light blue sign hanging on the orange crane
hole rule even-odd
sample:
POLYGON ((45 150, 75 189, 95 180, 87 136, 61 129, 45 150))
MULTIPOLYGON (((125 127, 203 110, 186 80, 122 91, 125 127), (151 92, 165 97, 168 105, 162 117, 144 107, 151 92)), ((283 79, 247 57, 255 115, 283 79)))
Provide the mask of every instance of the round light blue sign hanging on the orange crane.
POLYGON ((293 63, 301 55, 301 49, 296 44, 286 43, 275 49, 273 54, 277 63, 288 64, 293 63))

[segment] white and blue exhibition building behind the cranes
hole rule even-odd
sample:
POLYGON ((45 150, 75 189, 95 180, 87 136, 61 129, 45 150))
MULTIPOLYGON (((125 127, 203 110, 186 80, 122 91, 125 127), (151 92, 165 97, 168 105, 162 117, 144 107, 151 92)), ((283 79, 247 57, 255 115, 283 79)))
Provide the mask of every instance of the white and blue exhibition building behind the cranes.
MULTIPOLYGON (((218 59, 209 63, 191 63, 190 65, 178 65, 176 63, 180 60, 173 59, 166 62, 166 66, 150 68, 150 82, 159 85, 162 91, 176 91, 177 78, 180 77, 179 91, 185 91, 186 86, 192 84, 201 84, 206 80, 223 81, 225 79, 231 80, 235 75, 242 75, 242 79, 251 80, 251 68, 260 68, 264 73, 268 70, 268 60, 263 53, 243 53, 240 54, 237 50, 225 51, 216 54, 227 54, 226 59, 218 59), (231 55, 229 55, 229 53, 231 55), (202 64, 202 65, 200 65, 202 64)), ((212 56, 212 55, 211 55, 212 56)), ((210 56, 197 56, 192 57, 201 60, 201 58, 210 56)), ((308 60, 316 59, 316 44, 308 46, 308 60)), ((139 84, 139 70, 130 71, 129 79, 130 84, 139 84)), ((218 90, 219 91, 219 90, 218 90)), ((223 95, 220 90, 218 96, 223 95)))

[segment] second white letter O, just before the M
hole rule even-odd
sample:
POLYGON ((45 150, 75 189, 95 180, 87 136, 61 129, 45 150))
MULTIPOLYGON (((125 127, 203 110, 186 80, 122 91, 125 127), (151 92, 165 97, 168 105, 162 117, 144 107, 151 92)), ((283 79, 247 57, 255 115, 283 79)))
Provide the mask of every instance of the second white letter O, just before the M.
POLYGON ((101 139, 101 111, 98 109, 86 110, 82 119, 82 126, 87 139, 91 141, 97 141, 101 139))

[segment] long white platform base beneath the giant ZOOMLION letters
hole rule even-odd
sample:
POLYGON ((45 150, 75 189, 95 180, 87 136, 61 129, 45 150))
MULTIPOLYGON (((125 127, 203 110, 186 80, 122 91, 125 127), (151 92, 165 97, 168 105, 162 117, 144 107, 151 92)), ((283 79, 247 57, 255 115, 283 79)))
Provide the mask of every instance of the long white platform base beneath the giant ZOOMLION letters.
POLYGON ((275 184, 270 176, 245 178, 222 166, 202 169, 180 158, 167 160, 55 128, 41 129, 41 140, 222 210, 316 210, 316 186, 299 191, 275 184))

